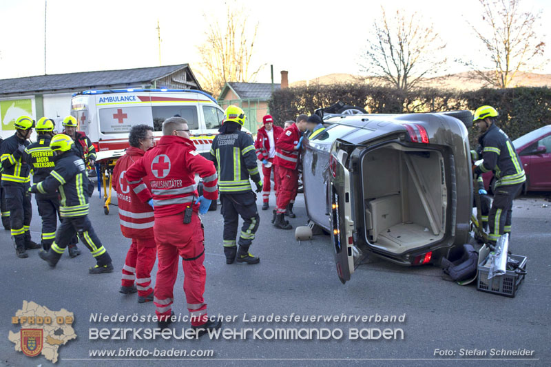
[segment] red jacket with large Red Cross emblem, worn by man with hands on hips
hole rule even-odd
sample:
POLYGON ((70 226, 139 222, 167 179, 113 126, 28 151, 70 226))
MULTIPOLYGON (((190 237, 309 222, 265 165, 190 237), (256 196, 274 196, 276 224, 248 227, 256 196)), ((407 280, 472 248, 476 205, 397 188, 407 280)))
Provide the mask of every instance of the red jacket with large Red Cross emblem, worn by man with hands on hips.
POLYGON ((218 176, 213 163, 198 154, 191 140, 162 136, 154 148, 127 169, 125 177, 142 202, 153 198, 155 217, 165 217, 182 213, 186 207, 198 210, 195 174, 203 179, 203 196, 216 200, 218 176))

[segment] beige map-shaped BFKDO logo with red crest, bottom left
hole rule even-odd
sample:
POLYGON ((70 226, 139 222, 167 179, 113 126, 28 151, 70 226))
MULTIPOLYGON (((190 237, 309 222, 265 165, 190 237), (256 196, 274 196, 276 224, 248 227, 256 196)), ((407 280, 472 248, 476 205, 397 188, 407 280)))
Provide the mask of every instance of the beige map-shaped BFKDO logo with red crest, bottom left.
POLYGON ((14 350, 29 357, 43 355, 56 363, 59 348, 76 339, 73 329, 74 314, 61 308, 52 311, 34 302, 23 301, 23 307, 12 317, 13 326, 21 326, 19 331, 10 331, 8 339, 15 344, 14 350))

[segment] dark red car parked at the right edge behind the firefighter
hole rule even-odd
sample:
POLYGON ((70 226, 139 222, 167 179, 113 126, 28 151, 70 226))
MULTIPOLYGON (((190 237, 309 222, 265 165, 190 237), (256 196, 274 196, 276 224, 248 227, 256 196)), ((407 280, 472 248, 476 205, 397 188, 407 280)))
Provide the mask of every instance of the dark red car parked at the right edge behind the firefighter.
MULTIPOLYGON (((523 192, 551 191, 551 125, 540 127, 512 141, 526 172, 523 192)), ((494 192, 492 172, 482 175, 486 190, 494 192)))

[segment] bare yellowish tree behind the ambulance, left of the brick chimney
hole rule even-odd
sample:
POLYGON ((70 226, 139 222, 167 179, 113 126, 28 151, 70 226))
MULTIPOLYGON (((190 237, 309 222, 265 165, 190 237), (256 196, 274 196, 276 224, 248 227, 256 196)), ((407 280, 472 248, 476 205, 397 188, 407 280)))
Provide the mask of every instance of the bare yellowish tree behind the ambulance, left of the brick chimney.
POLYGON ((198 47, 201 62, 198 74, 202 85, 215 97, 227 81, 250 82, 264 65, 251 66, 258 23, 248 27, 248 14, 235 4, 227 4, 225 23, 205 15, 209 24, 207 39, 198 47), (222 26, 221 26, 222 25, 222 26))

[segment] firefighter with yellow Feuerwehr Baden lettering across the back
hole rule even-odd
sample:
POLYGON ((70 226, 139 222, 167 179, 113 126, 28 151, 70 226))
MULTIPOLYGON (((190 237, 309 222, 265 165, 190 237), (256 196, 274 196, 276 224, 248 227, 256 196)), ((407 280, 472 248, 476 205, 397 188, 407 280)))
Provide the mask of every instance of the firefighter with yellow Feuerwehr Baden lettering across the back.
MULTIPOLYGON (((54 136, 54 121, 50 118, 41 118, 35 127, 37 130, 37 142, 28 145, 23 153, 23 159, 32 168, 32 182, 42 182, 52 169, 54 169, 54 152, 50 149, 50 140, 54 136)), ((56 237, 57 218, 59 217, 59 194, 37 193, 34 196, 37 200, 39 215, 42 218, 42 248, 45 251, 50 249, 56 237)), ((59 217, 61 220, 61 217, 59 217)))

